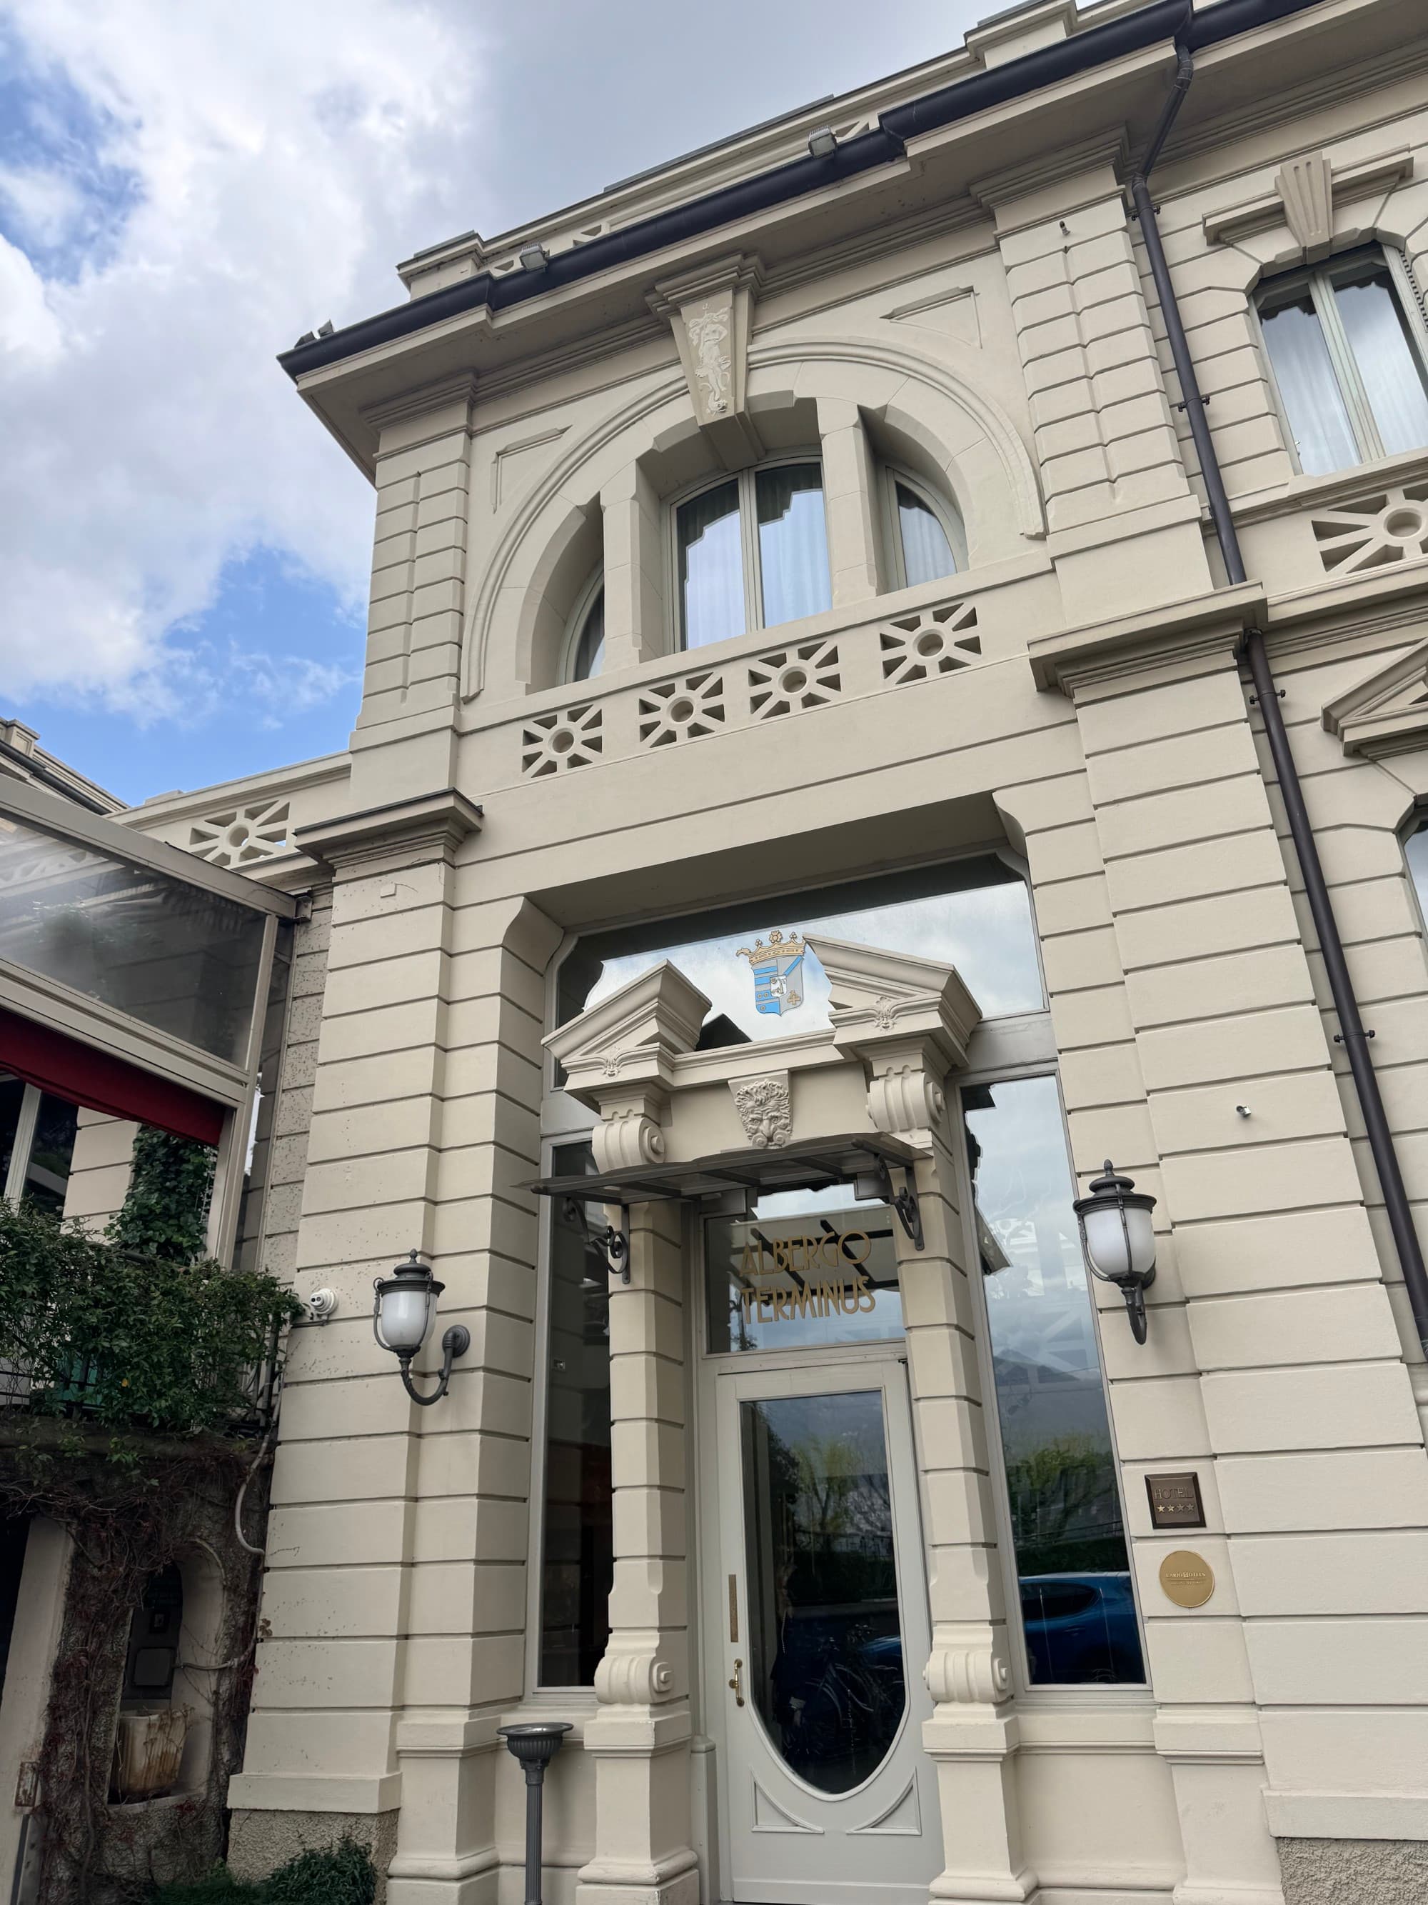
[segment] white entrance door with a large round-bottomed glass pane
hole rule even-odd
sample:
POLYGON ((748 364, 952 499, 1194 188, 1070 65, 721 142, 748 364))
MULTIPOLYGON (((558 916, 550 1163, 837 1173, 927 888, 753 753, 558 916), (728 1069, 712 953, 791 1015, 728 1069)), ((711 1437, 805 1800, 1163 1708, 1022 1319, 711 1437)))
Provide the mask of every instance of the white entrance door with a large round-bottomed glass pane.
POLYGON ((941 1833, 920 1737, 927 1594, 902 1366, 744 1366, 714 1391, 724 1892, 925 1899, 941 1833))

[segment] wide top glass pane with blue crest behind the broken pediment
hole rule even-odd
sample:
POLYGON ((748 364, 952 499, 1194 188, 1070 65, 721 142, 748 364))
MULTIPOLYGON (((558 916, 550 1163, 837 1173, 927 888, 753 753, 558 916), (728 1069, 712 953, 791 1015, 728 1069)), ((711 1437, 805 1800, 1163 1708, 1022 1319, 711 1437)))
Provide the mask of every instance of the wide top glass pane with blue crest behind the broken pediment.
POLYGON ((1045 1004, 1026 886, 1000 859, 977 857, 592 935, 562 966, 562 1023, 672 960, 710 998, 703 1044, 817 1031, 828 1025, 828 977, 805 933, 956 966, 984 1017, 1045 1004))

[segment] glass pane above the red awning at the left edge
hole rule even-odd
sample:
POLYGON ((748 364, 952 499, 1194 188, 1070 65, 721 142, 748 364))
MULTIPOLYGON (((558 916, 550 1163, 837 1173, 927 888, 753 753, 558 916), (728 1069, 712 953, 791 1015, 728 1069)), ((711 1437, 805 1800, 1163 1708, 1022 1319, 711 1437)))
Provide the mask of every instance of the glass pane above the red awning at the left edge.
POLYGON ((0 958, 232 1063, 265 914, 0 813, 0 958))

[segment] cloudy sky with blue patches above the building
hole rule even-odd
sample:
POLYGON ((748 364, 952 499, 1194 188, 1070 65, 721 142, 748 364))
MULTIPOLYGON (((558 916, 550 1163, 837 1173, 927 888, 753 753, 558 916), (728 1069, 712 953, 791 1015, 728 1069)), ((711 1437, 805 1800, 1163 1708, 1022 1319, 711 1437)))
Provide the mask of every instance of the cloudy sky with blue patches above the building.
POLYGON ((0 0, 0 716, 128 800, 347 745, 371 491, 274 352, 994 0, 0 0))

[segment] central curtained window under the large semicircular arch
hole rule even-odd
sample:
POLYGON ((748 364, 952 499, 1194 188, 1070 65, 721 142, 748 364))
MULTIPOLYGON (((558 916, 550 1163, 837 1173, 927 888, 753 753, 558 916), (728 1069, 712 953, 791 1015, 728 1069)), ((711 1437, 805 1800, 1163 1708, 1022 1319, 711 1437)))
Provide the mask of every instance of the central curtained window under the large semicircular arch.
POLYGON ((674 511, 680 646, 832 608, 823 467, 764 463, 674 511))

